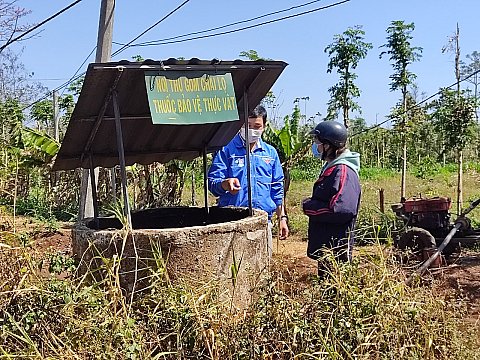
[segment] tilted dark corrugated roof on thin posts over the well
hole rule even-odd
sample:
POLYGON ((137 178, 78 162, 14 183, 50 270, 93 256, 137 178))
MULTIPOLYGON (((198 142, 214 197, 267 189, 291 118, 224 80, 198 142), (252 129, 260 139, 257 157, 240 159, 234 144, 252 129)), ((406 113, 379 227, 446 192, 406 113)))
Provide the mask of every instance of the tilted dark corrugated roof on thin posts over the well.
POLYGON ((248 91, 248 104, 252 109, 265 97, 286 66, 287 63, 283 61, 215 59, 90 64, 53 169, 89 168, 88 154, 83 158, 82 154, 92 137, 94 167, 112 167, 119 163, 111 100, 95 132, 95 123, 102 116, 102 108, 116 81, 126 164, 165 163, 172 159, 192 160, 201 155, 205 145, 208 152, 226 145, 244 121, 244 89, 248 91), (154 125, 145 88, 146 70, 230 72, 242 120, 200 125, 154 125))

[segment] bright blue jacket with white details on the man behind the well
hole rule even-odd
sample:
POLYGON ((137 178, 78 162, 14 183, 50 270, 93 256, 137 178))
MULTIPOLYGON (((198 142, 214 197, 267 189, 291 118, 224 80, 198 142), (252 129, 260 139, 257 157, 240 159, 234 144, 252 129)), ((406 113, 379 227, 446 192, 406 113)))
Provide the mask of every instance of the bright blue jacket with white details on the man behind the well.
MULTIPOLYGON (((264 210, 271 219, 283 201, 283 170, 275 148, 261 139, 250 153, 252 206, 264 210)), ((217 151, 208 171, 208 189, 218 196, 218 206, 248 206, 247 160, 245 143, 237 134, 217 151), (232 195, 222 189, 222 180, 237 178, 240 191, 232 195)))

